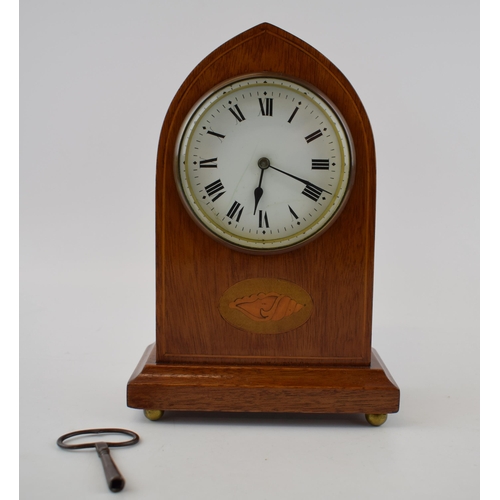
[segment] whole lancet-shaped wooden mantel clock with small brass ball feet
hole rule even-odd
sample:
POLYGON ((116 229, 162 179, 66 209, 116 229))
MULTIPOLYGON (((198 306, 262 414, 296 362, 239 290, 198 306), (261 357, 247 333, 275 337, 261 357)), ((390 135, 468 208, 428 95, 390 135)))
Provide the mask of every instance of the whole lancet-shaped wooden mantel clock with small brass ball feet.
POLYGON ((156 342, 127 387, 163 411, 399 409, 371 347, 375 150, 322 54, 270 24, 172 101, 156 178, 156 342))

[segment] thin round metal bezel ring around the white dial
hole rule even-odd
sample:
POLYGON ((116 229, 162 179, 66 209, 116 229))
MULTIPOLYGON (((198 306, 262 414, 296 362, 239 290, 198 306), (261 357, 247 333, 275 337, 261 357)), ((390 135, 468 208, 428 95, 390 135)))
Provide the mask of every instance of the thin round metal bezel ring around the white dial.
MULTIPOLYGON (((231 248, 233 250, 237 250, 242 253, 250 254, 250 255, 276 255, 276 254, 281 254, 281 253, 286 253, 290 252, 296 249, 299 249, 305 245, 308 245, 312 241, 316 240, 319 238, 321 235, 323 235, 326 231, 328 231, 329 228, 335 223, 335 221, 340 217, 341 213, 343 212, 345 206, 347 205, 347 202, 349 200, 352 187, 354 185, 354 180, 356 177, 356 151, 354 147, 354 141, 352 138, 352 134, 350 132, 349 126, 347 125, 347 122, 345 118, 343 117, 342 113, 338 109, 338 107, 335 105, 335 103, 321 90, 319 90, 316 86, 310 84, 309 82, 302 80, 300 78, 292 77, 284 73, 276 73, 276 72, 257 72, 257 73, 248 73, 248 74, 242 74, 230 79, 223 80, 222 82, 218 83, 214 87, 212 87, 210 90, 205 92, 197 101, 196 103, 191 107, 189 112, 186 114, 185 118, 183 119, 181 126, 179 128, 179 132, 177 134, 177 138, 175 141, 175 148, 174 148, 174 159, 173 159, 173 173, 174 173, 174 180, 175 180, 175 185, 177 188, 177 193, 180 197, 181 203, 186 209, 187 213, 189 214, 190 218, 195 222, 197 227, 203 231, 204 234, 210 236, 213 240, 217 241, 218 243, 231 248), (334 113, 334 115, 337 117, 340 126, 343 129, 343 132, 345 134, 346 138, 346 147, 349 152, 349 158, 350 158, 350 168, 346 172, 348 175, 348 181, 347 181, 347 186, 344 192, 344 195, 342 197, 342 200, 340 201, 339 206, 337 209, 333 212, 333 214, 330 216, 329 220, 324 223, 319 229, 314 231, 310 236, 297 241, 297 242, 292 242, 289 245, 284 245, 279 248, 254 248, 254 247, 249 247, 245 246, 244 244, 237 244, 232 241, 229 241, 225 239, 223 236, 218 234, 216 231, 212 230, 209 225, 207 225, 193 210, 191 207, 189 201, 186 199, 186 193, 184 191, 184 187, 182 185, 182 180, 180 178, 180 170, 181 170, 181 165, 180 165, 180 148, 181 144, 184 138, 184 135, 186 134, 186 129, 188 127, 188 124, 192 120, 193 116, 197 112, 197 110, 202 106, 202 104, 213 94, 219 92, 221 89, 224 87, 230 86, 234 83, 237 83, 239 81, 243 80, 249 80, 253 78, 276 78, 284 81, 289 81, 292 84, 297 84, 305 88, 306 90, 310 91, 311 93, 314 93, 317 95, 320 99, 322 99, 327 106, 331 108, 331 111, 334 113)), ((206 217, 206 216, 205 216, 206 217)), ((213 223, 210 218, 206 217, 208 223, 212 226, 216 226, 215 223, 213 223)))

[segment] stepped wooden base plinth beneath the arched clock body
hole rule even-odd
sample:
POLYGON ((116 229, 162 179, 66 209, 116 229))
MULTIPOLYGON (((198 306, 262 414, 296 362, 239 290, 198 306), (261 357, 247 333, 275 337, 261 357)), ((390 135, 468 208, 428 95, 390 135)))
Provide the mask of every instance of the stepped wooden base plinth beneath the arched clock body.
POLYGON ((399 410, 399 389, 375 350, 370 367, 156 363, 150 345, 127 385, 131 408, 167 411, 365 413, 399 410))

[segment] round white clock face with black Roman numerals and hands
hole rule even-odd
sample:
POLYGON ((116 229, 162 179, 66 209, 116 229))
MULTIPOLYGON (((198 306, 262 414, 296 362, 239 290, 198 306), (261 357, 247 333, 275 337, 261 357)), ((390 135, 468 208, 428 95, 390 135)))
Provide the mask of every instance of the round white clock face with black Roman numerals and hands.
POLYGON ((295 248, 344 205, 352 145, 319 92, 274 75, 211 92, 178 138, 176 178, 188 211, 210 235, 243 251, 295 248))

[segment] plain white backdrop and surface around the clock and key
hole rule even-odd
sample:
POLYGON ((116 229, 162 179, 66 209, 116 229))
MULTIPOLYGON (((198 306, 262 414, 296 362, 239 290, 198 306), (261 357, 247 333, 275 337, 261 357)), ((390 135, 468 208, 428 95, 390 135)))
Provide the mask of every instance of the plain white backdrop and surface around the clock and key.
POLYGON ((141 435, 113 452, 124 500, 479 497, 478 2, 24 0, 20 56, 22 499, 108 498, 97 454, 55 444, 97 426, 141 435), (401 389, 380 428, 126 407, 155 337, 163 118, 264 21, 328 57, 372 123, 373 345, 401 389))

